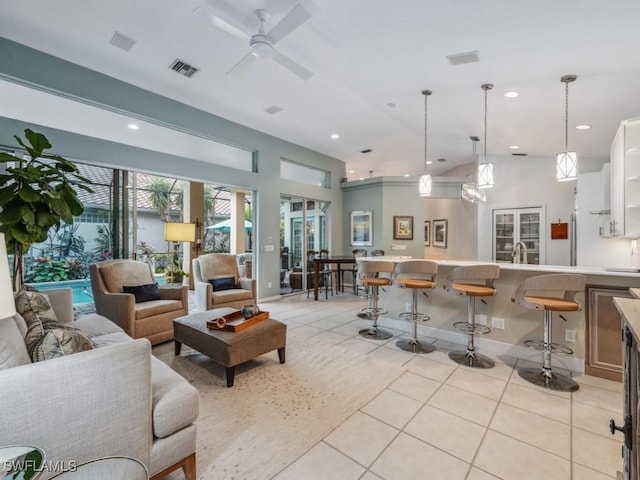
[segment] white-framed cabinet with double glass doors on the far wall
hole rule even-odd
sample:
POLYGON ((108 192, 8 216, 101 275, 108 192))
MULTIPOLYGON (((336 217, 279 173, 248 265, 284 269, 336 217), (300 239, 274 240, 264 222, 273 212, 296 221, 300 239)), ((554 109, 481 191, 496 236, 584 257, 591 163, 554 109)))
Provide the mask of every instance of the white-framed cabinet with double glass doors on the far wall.
POLYGON ((527 247, 527 263, 544 264, 545 232, 542 207, 498 209, 493 211, 493 260, 512 263, 518 242, 527 247))

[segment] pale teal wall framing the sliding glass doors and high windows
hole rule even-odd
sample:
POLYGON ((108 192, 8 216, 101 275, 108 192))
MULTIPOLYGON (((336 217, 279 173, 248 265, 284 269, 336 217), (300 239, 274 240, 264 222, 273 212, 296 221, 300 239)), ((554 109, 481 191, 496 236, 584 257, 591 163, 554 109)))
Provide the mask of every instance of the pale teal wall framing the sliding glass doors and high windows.
MULTIPOLYGON (((153 145, 136 148, 36 123, 0 117, 0 145, 15 146, 13 136, 25 128, 45 133, 55 153, 104 166, 131 168, 173 175, 188 180, 228 185, 256 192, 257 281, 259 298, 279 294, 279 248, 260 252, 271 237, 280 238, 280 195, 331 202, 329 248, 336 254, 343 246, 343 195, 340 179, 343 161, 300 145, 212 115, 189 105, 149 92, 113 77, 0 37, 0 79, 30 86, 81 103, 97 106, 162 125, 185 135, 193 134, 255 151, 258 172, 251 173, 164 153, 153 145), (280 179, 280 160, 288 160, 329 172, 331 187, 322 188, 280 179), (267 288, 268 282, 273 287, 267 288)), ((183 81, 177 77, 176 81, 183 81)), ((2 114, 0 110, 0 115, 2 114)))

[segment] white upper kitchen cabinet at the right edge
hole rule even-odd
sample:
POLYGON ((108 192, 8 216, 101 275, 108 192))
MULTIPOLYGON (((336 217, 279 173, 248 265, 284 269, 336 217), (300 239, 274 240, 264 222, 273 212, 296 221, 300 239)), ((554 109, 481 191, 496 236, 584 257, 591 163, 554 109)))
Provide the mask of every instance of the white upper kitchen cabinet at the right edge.
POLYGON ((640 119, 623 121, 611 144, 609 234, 640 236, 640 119))

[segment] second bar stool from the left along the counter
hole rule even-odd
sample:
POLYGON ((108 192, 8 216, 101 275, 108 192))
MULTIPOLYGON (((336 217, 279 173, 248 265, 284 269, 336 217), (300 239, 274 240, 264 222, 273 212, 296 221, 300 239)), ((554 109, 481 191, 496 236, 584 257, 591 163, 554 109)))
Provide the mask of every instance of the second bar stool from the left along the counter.
POLYGON ((407 260, 396 265, 396 285, 412 290, 411 311, 401 313, 399 317, 413 322, 413 336, 396 342, 400 350, 412 353, 429 353, 435 350, 433 345, 418 341, 418 322, 426 322, 430 318, 429 315, 418 313, 418 290, 435 288, 436 273, 438 264, 429 260, 407 260))

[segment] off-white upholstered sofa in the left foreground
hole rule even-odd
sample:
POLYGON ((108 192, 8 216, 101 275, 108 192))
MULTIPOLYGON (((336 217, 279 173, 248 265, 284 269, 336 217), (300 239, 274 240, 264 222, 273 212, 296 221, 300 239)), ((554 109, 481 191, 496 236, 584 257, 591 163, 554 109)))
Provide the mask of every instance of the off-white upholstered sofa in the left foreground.
POLYGON ((58 320, 96 348, 31 363, 24 319, 0 319, 0 446, 35 446, 60 466, 133 457, 152 479, 182 468, 195 480, 197 390, 153 357, 147 339, 97 314, 73 321, 71 290, 46 293, 58 320))

